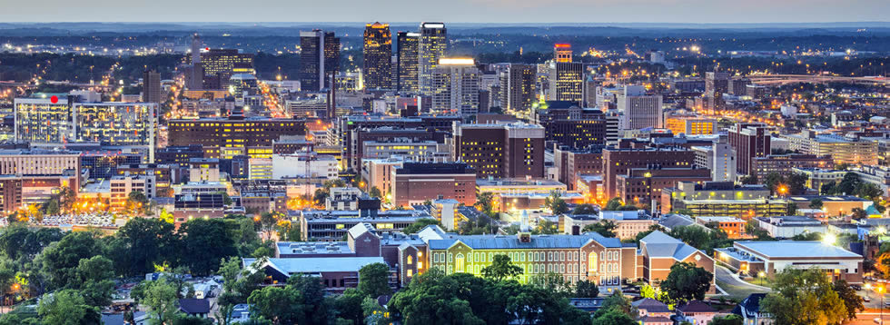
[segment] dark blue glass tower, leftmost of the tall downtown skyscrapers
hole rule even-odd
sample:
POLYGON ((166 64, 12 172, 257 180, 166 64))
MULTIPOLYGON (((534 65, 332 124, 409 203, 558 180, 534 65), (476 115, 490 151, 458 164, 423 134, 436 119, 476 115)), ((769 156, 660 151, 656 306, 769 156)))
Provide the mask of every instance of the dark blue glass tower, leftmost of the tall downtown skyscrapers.
POLYGON ((340 38, 321 29, 300 32, 300 48, 301 89, 320 91, 340 71, 340 38))

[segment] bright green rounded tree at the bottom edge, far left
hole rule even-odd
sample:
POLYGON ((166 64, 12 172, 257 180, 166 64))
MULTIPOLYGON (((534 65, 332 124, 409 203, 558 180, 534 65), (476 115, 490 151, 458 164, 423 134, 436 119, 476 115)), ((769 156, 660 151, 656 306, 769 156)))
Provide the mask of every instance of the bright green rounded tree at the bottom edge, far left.
POLYGON ((98 324, 99 310, 87 305, 77 291, 56 291, 46 295, 37 306, 45 325, 98 324))

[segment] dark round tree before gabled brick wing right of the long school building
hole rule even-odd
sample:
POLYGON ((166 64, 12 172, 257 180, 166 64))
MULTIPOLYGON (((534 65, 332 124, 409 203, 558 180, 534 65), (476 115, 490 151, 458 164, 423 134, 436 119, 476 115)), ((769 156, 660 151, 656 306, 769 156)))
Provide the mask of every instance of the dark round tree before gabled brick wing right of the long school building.
POLYGON ((704 300, 705 293, 711 287, 714 275, 696 264, 678 262, 670 267, 667 278, 661 281, 661 291, 667 298, 677 302, 688 300, 704 300))

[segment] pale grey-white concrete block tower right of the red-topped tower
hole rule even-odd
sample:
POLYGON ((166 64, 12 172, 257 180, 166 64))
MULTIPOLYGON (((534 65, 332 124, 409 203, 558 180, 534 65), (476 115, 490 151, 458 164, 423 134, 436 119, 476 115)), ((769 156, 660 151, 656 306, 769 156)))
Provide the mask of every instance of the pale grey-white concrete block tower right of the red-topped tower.
POLYGON ((618 112, 623 113, 623 123, 630 130, 662 127, 661 95, 648 95, 641 85, 626 85, 617 96, 618 112))

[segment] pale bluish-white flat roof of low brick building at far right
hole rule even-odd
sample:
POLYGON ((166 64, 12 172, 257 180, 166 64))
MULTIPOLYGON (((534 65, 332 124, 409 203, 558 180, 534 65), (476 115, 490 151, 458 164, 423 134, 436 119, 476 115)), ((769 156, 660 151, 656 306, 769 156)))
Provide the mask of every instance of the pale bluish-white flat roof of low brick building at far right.
POLYGON ((736 241, 736 246, 767 258, 859 258, 862 255, 846 251, 822 241, 736 241))

